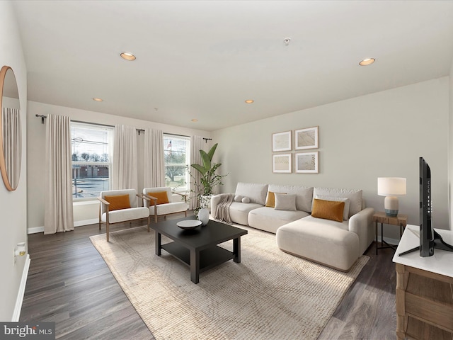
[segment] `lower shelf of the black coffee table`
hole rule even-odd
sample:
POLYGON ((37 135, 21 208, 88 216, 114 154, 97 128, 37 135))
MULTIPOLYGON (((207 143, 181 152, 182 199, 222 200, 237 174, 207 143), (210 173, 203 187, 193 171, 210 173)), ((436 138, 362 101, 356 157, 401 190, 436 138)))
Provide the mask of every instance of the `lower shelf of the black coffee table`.
MULTIPOLYGON (((190 267, 190 250, 184 246, 180 246, 177 242, 170 242, 162 244, 161 248, 173 255, 190 267)), ((214 268, 221 263, 234 259, 234 253, 229 250, 222 248, 221 246, 213 246, 212 248, 204 249, 200 251, 200 268, 199 273, 207 271, 210 268, 214 268)))

